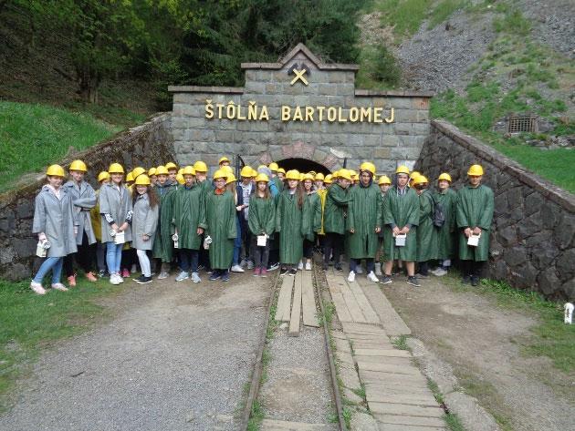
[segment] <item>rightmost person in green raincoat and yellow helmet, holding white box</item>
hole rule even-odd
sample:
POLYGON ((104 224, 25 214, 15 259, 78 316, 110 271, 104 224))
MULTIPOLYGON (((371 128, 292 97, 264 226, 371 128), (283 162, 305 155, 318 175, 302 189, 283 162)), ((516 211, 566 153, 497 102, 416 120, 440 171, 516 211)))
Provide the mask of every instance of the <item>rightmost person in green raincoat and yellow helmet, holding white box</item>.
POLYGON ((479 284, 479 276, 489 258, 489 232, 495 201, 493 190, 481 184, 483 168, 472 165, 467 170, 468 184, 457 191, 457 228, 459 259, 464 270, 464 283, 479 284), (477 245, 469 245, 470 237, 479 237, 477 245))

